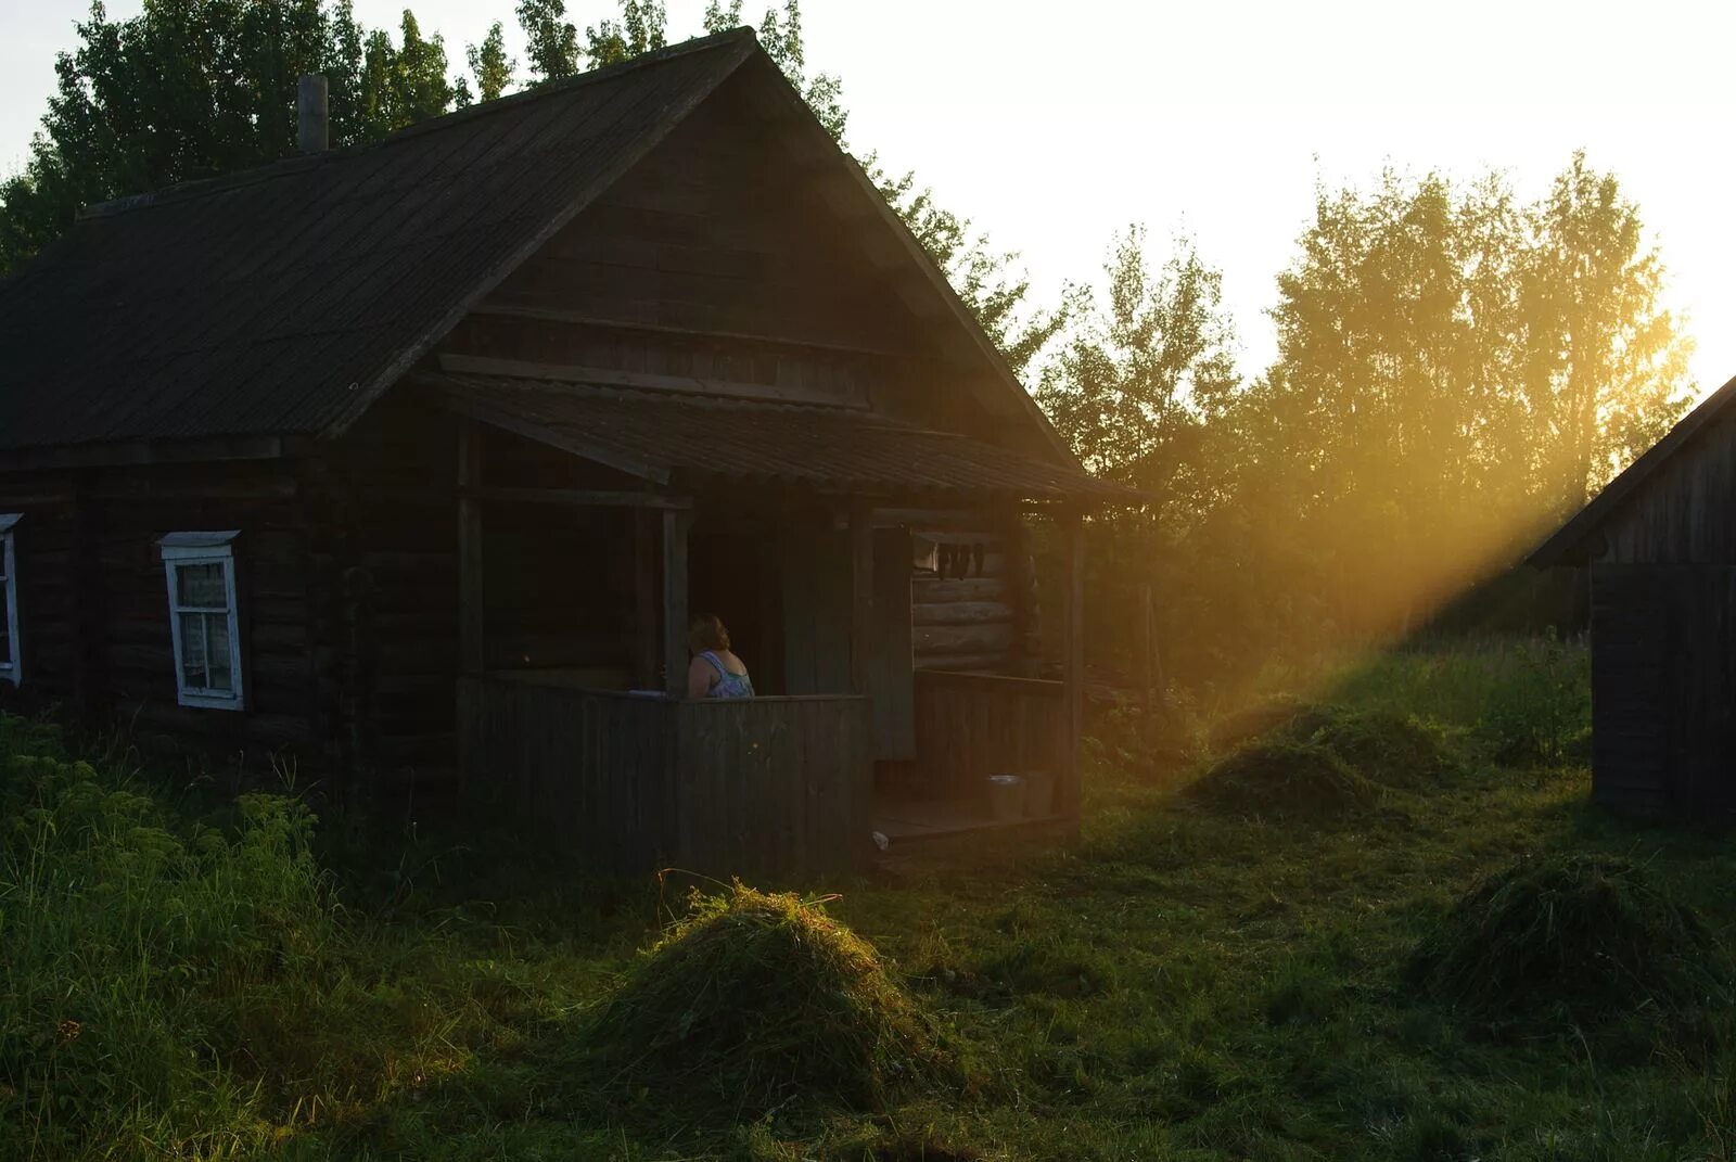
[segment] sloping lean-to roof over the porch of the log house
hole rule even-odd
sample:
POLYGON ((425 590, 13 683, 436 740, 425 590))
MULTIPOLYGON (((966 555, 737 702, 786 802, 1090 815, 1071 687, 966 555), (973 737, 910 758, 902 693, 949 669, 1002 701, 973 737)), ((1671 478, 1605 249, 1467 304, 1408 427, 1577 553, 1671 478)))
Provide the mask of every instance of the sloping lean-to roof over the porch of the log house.
POLYGON ((856 408, 524 380, 422 377, 450 410, 654 485, 729 479, 851 493, 1139 504, 1141 493, 856 408))

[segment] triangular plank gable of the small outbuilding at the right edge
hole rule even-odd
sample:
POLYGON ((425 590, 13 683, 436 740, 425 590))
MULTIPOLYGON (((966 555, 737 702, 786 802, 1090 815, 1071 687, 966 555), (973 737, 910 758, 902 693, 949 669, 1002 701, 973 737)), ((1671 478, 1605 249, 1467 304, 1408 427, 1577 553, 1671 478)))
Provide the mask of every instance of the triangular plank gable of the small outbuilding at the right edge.
POLYGON ((1611 563, 1736 564, 1736 417, 1698 432, 1602 528, 1611 563))

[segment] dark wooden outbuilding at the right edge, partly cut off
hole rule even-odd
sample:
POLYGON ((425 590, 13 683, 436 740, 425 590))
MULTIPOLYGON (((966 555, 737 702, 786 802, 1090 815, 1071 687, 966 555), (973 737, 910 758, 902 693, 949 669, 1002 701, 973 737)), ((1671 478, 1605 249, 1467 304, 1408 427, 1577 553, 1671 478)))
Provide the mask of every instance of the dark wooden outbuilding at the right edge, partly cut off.
POLYGON ((1736 380, 1529 563, 1590 571, 1594 797, 1736 811, 1736 380))

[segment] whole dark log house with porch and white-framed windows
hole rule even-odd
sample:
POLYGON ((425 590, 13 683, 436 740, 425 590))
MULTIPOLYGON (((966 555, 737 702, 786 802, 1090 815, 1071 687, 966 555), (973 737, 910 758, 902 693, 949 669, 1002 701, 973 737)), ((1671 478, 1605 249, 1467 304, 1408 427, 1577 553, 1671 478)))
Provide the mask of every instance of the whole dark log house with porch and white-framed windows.
POLYGON ((745 30, 95 207, 0 354, 10 700, 458 771, 616 868, 854 865, 993 771, 1076 818, 1125 493, 745 30), (766 697, 684 698, 696 610, 766 697))

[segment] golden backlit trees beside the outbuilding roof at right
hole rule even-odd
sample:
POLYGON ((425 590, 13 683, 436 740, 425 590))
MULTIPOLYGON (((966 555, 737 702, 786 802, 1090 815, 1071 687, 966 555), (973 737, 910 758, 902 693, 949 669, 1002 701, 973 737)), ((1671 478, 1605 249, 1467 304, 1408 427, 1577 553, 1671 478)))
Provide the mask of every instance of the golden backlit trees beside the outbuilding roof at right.
POLYGON ((1496 175, 1323 191, 1300 245, 1250 401, 1257 471, 1347 631, 1411 625, 1507 566, 1686 406, 1661 259, 1583 155, 1533 205, 1496 175))

